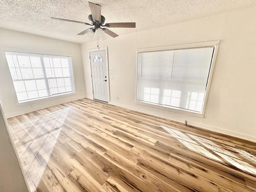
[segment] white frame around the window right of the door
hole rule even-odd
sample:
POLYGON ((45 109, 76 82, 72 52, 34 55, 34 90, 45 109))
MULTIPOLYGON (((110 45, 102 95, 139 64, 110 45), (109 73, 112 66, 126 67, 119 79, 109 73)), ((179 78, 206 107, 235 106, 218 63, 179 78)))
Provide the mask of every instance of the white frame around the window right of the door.
POLYGON ((214 66, 216 62, 216 56, 218 53, 218 46, 219 46, 220 41, 208 41, 208 42, 196 42, 196 43, 189 43, 189 44, 177 44, 177 45, 170 45, 170 46, 160 46, 160 47, 150 47, 150 48, 138 48, 136 50, 136 94, 135 94, 135 104, 138 106, 149 106, 153 108, 158 108, 162 110, 167 110, 167 111, 172 111, 172 112, 177 112, 181 114, 187 114, 191 116, 196 116, 196 117, 204 117, 205 109, 206 109, 206 104, 208 100, 208 94, 210 91, 210 84, 212 81, 212 75, 214 71, 214 66), (206 93, 205 93, 205 99, 204 99, 204 104, 202 107, 202 112, 192 112, 191 110, 186 110, 182 108, 176 108, 172 106, 162 106, 160 104, 153 104, 153 103, 148 103, 148 102, 143 102, 137 100, 137 94, 138 94, 138 65, 139 65, 139 57, 138 54, 140 52, 153 52, 153 51, 165 51, 165 50, 177 50, 177 49, 188 49, 188 48, 200 48, 200 47, 207 47, 207 46, 214 46, 214 53, 212 56, 212 64, 210 67, 210 72, 208 76, 208 82, 206 86, 206 93))

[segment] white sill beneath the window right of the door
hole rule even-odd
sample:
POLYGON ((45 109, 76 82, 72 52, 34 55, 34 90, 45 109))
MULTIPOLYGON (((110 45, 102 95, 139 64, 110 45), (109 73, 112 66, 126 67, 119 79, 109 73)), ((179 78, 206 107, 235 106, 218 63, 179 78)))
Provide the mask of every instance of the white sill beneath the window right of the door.
POLYGON ((176 113, 181 113, 181 114, 186 114, 186 115, 191 115, 191 116, 196 116, 196 117, 200 117, 200 118, 204 118, 204 114, 200 113, 200 112, 192 112, 192 111, 185 110, 185 109, 178 109, 178 108, 174 108, 174 107, 170 107, 170 106, 162 106, 162 105, 148 103, 148 102, 142 102, 142 101, 136 101, 135 104, 143 105, 143 106, 148 106, 148 107, 152 107, 152 108, 158 108, 158 109, 162 109, 162 110, 166 110, 166 111, 171 111, 171 112, 176 112, 176 113))

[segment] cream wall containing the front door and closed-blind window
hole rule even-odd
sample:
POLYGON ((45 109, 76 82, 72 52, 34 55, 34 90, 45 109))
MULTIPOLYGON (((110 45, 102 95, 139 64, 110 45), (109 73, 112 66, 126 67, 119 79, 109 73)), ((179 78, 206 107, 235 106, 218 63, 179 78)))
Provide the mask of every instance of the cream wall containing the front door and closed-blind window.
MULTIPOLYGON (((100 41, 108 46, 110 103, 256 141, 255 12, 252 7, 100 41), (135 104, 136 49, 212 40, 220 40, 220 46, 204 118, 135 104)), ((96 42, 81 45, 88 98, 93 96, 92 48, 96 42)))

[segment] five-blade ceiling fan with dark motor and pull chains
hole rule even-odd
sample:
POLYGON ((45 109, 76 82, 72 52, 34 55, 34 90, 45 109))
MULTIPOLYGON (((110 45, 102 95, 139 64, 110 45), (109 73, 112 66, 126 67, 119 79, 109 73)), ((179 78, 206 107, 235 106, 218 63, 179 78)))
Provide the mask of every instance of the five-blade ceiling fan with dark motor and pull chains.
POLYGON ((68 19, 61 19, 61 18, 55 18, 55 17, 51 17, 52 19, 55 20, 61 20, 61 21, 68 21, 68 22, 75 22, 75 23, 81 23, 81 24, 86 24, 86 25, 90 25, 90 26, 94 26, 92 28, 88 28, 82 32, 80 32, 78 35, 84 35, 84 34, 88 34, 88 36, 90 36, 90 38, 92 38, 94 36, 94 33, 97 31, 97 35, 98 37, 100 37, 102 40, 106 39, 106 35, 104 34, 104 32, 112 37, 117 37, 118 34, 112 32, 111 30, 109 30, 108 28, 111 27, 122 27, 122 28, 135 28, 136 27, 136 23, 135 22, 127 22, 127 23, 106 23, 104 25, 105 22, 105 17, 101 15, 101 6, 98 4, 94 4, 92 2, 88 2, 89 6, 90 6, 90 10, 91 13, 88 16, 88 19, 90 21, 91 24, 89 23, 85 23, 85 22, 80 22, 80 21, 74 21, 74 20, 68 20, 68 19), (102 28, 102 27, 107 27, 107 28, 102 28))

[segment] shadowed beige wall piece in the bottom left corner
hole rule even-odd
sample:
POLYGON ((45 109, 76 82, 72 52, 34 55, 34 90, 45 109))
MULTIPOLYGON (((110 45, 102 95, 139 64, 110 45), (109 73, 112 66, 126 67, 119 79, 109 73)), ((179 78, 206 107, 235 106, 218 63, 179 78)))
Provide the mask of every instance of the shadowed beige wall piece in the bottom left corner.
POLYGON ((0 103, 0 191, 28 192, 0 103))

